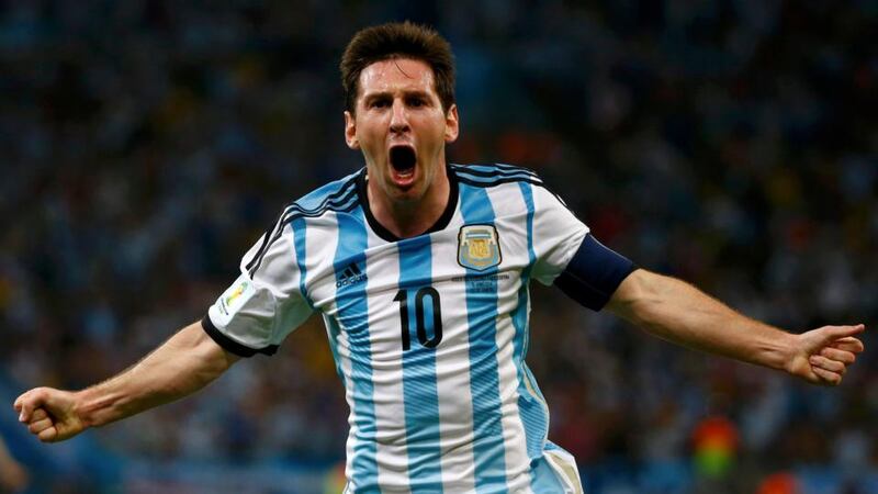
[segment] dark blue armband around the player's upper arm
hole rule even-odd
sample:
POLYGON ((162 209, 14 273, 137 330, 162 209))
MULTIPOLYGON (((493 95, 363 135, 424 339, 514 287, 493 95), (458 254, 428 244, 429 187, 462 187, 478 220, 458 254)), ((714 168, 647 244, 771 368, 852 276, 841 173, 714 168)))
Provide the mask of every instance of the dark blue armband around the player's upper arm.
POLYGON ((600 311, 622 280, 635 269, 628 258, 588 234, 554 284, 581 305, 600 311))

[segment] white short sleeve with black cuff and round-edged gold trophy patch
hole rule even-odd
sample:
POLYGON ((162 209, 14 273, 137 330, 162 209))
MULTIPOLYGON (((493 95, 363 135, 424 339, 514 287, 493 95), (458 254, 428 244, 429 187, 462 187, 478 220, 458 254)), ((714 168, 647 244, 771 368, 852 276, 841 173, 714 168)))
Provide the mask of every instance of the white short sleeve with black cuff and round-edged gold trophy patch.
POLYGON ((273 355, 313 312, 301 284, 294 232, 281 222, 244 256, 240 276, 207 310, 204 330, 232 353, 273 355))

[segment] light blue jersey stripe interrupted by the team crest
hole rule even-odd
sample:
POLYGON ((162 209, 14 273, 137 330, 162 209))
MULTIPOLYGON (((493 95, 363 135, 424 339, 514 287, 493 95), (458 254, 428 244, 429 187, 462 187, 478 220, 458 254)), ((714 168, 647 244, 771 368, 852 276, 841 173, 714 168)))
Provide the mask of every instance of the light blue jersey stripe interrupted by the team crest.
MULTIPOLYGON (((461 183, 460 197, 464 224, 494 224, 494 209, 485 189, 461 183)), ((466 268, 468 277, 485 277, 480 280, 477 289, 474 283, 466 283, 473 460, 475 489, 480 493, 508 491, 497 369, 497 280, 492 278, 496 272, 496 267, 484 271, 466 268)))

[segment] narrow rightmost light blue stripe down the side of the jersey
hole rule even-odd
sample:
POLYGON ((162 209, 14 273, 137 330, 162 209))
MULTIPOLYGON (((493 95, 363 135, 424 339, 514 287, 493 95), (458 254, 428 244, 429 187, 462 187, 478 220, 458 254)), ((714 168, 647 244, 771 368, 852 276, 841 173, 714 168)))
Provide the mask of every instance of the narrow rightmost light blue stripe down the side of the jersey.
POLYGON ((525 206, 527 207, 528 267, 521 272, 521 288, 518 289, 518 306, 515 313, 513 313, 513 326, 515 326, 516 330, 516 336, 513 341, 515 348, 515 364, 518 371, 518 411, 521 416, 521 422, 525 425, 528 458, 532 460, 542 454, 542 445, 549 429, 549 417, 545 413, 544 400, 525 364, 525 356, 528 351, 528 283, 530 282, 530 271, 533 269, 537 255, 533 251, 532 186, 526 182, 519 182, 518 186, 521 190, 521 199, 525 201, 525 206), (528 389, 526 382, 530 384, 530 389, 528 389), (537 396, 534 396, 534 394, 537 396))

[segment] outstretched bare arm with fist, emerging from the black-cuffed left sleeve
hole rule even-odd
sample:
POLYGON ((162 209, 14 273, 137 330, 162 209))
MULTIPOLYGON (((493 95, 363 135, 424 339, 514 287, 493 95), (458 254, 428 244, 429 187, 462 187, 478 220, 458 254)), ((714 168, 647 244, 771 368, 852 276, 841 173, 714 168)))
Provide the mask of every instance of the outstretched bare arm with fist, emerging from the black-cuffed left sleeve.
POLYGON ((76 392, 36 388, 19 396, 14 407, 41 441, 60 441, 187 396, 237 360, 194 323, 114 378, 76 392))

